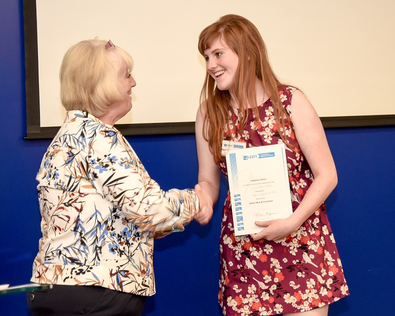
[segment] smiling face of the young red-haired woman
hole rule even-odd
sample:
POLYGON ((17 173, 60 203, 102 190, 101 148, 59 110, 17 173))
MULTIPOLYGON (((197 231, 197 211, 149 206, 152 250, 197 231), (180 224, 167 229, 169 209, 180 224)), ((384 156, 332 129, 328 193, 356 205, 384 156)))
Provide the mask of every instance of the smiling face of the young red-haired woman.
POLYGON ((225 41, 217 39, 204 51, 203 56, 206 60, 206 70, 217 82, 218 89, 231 90, 238 66, 237 54, 225 41))

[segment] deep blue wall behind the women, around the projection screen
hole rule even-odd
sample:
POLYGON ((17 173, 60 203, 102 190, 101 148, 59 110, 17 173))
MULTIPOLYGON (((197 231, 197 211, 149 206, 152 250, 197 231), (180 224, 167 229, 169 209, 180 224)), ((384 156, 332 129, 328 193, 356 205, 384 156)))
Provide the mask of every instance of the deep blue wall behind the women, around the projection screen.
MULTIPOLYGON (((22 0, 1 2, 0 283, 17 285, 29 282, 38 250, 35 176, 49 141, 22 139, 26 135, 22 0)), ((372 91, 367 97, 375 93, 383 92, 372 91)), ((327 200, 328 214, 351 290, 351 296, 331 306, 329 315, 393 315, 395 127, 326 133, 339 175, 339 184, 327 200)), ((195 185, 194 135, 128 140, 163 189, 195 185)), ((221 315, 218 237, 226 190, 223 181, 209 225, 192 223, 186 232, 156 241, 157 294, 148 299, 145 316, 221 315)), ((1 315, 29 315, 24 294, 0 296, 0 310, 1 315)))

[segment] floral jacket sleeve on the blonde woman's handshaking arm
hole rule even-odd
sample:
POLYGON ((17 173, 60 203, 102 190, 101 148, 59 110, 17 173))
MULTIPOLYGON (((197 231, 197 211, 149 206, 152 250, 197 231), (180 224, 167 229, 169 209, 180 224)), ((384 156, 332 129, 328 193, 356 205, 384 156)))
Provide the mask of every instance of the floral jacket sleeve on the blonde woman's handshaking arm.
POLYGON ((162 191, 119 132, 110 136, 106 131, 100 132, 86 160, 97 192, 142 231, 186 225, 198 212, 196 193, 190 189, 162 191))

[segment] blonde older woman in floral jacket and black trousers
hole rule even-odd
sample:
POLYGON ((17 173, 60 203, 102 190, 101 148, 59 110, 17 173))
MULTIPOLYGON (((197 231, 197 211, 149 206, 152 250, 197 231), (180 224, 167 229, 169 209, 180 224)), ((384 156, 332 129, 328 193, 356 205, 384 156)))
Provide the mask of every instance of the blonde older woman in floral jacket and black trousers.
POLYGON ((132 107, 130 55, 111 41, 83 40, 65 54, 68 110, 37 180, 40 251, 27 296, 33 315, 140 315, 155 294, 154 236, 188 224, 205 193, 163 192, 114 123, 132 107), (77 286, 78 285, 78 286, 77 286))

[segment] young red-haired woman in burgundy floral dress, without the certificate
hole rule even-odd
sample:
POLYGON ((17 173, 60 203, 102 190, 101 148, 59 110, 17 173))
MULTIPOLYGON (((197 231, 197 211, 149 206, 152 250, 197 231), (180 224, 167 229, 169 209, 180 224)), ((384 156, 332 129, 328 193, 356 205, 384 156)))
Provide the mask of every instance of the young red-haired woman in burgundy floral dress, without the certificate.
POLYGON ((207 70, 196 119, 198 182, 211 203, 196 220, 208 223, 220 170, 227 175, 223 140, 285 144, 292 197, 291 216, 256 222, 265 229, 237 237, 228 193, 220 237, 223 313, 327 315, 349 291, 324 204, 337 174, 320 119, 300 90, 276 78, 247 19, 221 17, 200 33, 198 48, 207 70))

